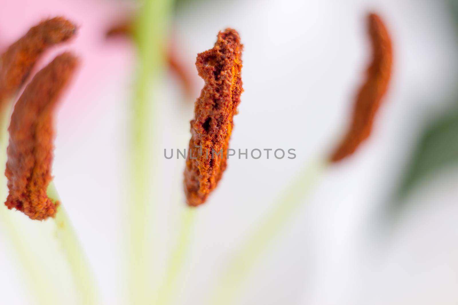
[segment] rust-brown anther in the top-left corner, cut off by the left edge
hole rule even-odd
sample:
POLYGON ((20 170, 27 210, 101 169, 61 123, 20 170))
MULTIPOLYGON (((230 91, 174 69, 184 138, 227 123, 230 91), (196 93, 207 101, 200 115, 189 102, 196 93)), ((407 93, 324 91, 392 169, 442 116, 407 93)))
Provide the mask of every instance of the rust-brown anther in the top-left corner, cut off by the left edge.
POLYGON ((22 86, 39 56, 76 33, 76 26, 63 17, 42 21, 13 43, 0 57, 0 107, 22 86))

